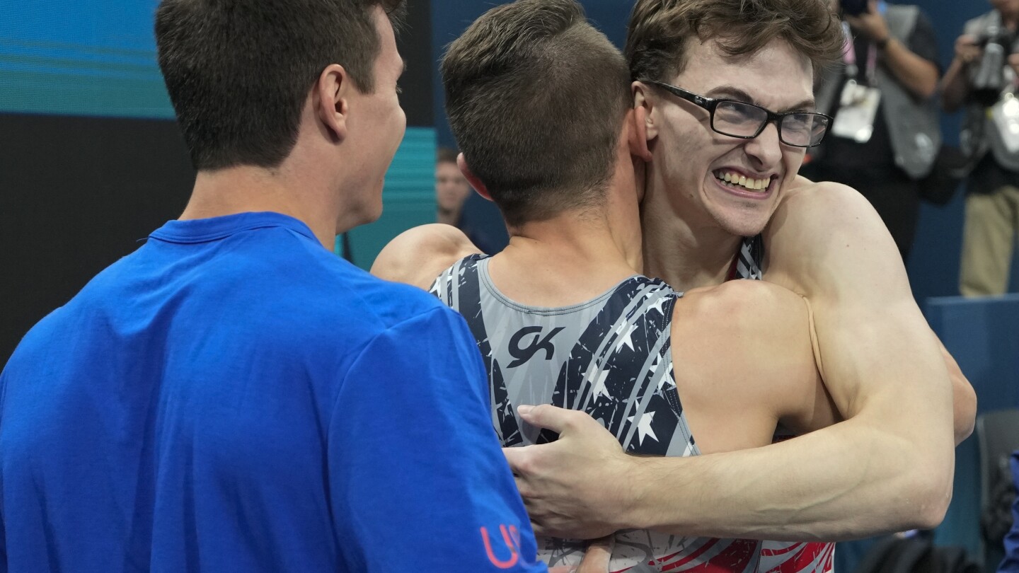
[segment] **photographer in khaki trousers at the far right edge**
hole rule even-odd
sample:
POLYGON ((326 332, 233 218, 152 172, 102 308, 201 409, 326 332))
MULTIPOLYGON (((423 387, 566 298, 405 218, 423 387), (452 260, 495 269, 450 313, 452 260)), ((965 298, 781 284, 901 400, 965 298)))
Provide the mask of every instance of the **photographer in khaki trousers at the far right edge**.
POLYGON ((960 145, 975 164, 969 176, 959 291, 1001 295, 1008 288, 1019 227, 1019 0, 990 0, 991 11, 966 22, 945 73, 943 103, 965 104, 960 145))

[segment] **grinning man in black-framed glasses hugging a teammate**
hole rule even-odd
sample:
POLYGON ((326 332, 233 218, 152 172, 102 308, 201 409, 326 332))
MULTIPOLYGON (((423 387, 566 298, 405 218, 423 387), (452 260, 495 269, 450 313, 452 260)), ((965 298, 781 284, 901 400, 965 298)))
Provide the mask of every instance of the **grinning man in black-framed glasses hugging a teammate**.
MULTIPOLYGON (((559 439, 505 452, 537 532, 830 540, 941 521, 953 433, 958 442, 972 429, 972 388, 917 308, 873 208, 852 189, 797 176, 830 123, 808 115, 814 75, 844 45, 838 18, 814 0, 639 0, 626 55, 646 142, 645 274, 680 290, 763 278, 803 296, 846 421, 748 452, 648 460, 625 456, 590 417, 540 406, 522 417, 559 439)), ((796 571, 812 570, 816 551, 765 544, 801 553, 796 571)))

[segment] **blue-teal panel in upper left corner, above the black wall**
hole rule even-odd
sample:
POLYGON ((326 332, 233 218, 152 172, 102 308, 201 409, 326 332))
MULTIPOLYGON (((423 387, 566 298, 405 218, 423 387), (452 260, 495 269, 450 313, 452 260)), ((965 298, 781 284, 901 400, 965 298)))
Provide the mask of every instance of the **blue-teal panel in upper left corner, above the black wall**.
POLYGON ((0 112, 172 119, 156 0, 0 0, 0 112))

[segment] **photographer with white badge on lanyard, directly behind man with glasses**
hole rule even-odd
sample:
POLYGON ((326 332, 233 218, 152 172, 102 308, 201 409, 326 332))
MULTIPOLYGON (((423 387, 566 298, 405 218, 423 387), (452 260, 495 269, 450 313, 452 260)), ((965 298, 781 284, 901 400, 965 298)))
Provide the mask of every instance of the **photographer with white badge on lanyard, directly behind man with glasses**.
POLYGON ((846 50, 815 88, 817 111, 835 117, 828 137, 800 172, 848 185, 870 201, 909 256, 919 216, 919 179, 941 147, 937 42, 913 5, 833 0, 846 50))

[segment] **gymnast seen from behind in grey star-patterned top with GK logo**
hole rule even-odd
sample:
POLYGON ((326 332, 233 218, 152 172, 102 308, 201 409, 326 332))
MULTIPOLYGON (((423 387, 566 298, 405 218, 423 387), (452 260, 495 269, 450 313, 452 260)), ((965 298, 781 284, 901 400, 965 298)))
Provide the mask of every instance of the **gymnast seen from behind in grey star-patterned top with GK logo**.
MULTIPOLYGON (((589 414, 615 449, 659 457, 754 448, 779 422, 805 430, 833 421, 815 402, 824 390, 801 299, 750 281, 680 299, 635 270, 637 129, 626 63, 578 4, 519 0, 489 10, 450 44, 442 75, 461 167, 500 208, 509 245, 485 257, 462 232, 426 225, 390 243, 372 270, 431 287, 465 316, 488 369, 492 423, 503 446, 525 447, 507 458, 561 431, 528 426, 533 405, 589 414), (518 109, 530 111, 521 118, 518 109), (703 436, 696 446, 694 435, 703 436)), ((763 571, 805 551, 786 543, 767 554, 756 540, 654 529, 616 533, 610 570, 763 571)), ((553 566, 575 565, 585 550, 570 539, 539 543, 553 566)), ((830 546, 814 558, 808 570, 824 570, 830 546)))

